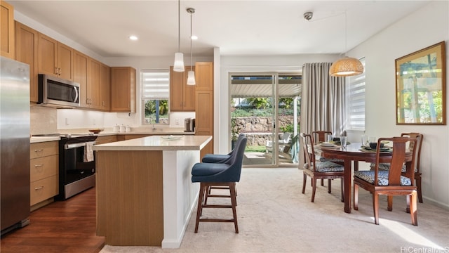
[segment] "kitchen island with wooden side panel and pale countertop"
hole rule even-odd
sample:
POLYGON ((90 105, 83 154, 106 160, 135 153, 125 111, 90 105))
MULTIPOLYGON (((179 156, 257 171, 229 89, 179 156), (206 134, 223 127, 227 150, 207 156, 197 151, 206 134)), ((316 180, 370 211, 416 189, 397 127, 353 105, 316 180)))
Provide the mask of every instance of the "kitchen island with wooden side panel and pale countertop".
POLYGON ((106 245, 180 247, 199 184, 191 171, 212 136, 149 136, 94 145, 97 235, 106 245))

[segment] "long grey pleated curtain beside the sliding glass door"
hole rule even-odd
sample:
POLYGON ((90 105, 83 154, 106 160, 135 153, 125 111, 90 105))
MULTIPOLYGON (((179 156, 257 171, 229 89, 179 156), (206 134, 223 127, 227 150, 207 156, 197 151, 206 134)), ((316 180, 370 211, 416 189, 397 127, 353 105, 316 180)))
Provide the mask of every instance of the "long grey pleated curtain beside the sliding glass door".
MULTIPOLYGON (((345 78, 331 77, 332 63, 305 63, 302 66, 300 131, 332 131, 334 136, 345 132, 345 78)), ((300 155, 303 159, 303 155, 300 155)), ((300 164, 303 164, 301 161, 300 164)), ((302 167, 302 165, 300 165, 302 167)))

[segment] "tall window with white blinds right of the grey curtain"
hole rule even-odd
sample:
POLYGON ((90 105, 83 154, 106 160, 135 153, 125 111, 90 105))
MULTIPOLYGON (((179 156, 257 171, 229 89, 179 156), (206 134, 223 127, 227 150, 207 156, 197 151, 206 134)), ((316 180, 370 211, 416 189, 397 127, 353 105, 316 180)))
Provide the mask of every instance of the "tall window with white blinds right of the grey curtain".
POLYGON ((365 131, 365 58, 360 61, 365 69, 363 74, 347 79, 347 129, 365 131))

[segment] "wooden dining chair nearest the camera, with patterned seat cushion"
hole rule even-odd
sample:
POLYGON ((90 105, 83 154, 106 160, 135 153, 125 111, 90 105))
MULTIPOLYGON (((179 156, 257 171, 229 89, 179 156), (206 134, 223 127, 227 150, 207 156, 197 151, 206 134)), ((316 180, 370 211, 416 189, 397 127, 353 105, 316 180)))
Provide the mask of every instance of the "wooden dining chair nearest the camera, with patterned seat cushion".
POLYGON ((377 146, 380 146, 382 141, 391 141, 393 143, 393 150, 388 162, 389 170, 379 169, 381 151, 378 148, 376 150, 374 170, 354 171, 354 209, 358 210, 358 188, 361 187, 368 190, 373 195, 374 223, 378 225, 379 195, 387 195, 387 209, 389 211, 393 209, 394 195, 407 195, 412 224, 417 226, 417 191, 416 186, 413 185, 413 179, 415 178, 413 171, 415 152, 412 152, 411 162, 407 163, 405 176, 402 173, 403 163, 406 160, 406 152, 408 151, 406 150, 406 145, 409 142, 409 146, 416 146, 417 139, 409 137, 379 138, 377 146))

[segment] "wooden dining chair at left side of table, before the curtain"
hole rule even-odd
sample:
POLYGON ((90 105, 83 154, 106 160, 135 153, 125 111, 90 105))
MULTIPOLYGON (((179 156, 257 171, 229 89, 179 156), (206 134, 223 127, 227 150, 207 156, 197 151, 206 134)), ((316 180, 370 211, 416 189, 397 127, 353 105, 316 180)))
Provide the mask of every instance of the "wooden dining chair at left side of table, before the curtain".
MULTIPOLYGON (((314 150, 314 139, 310 134, 301 134, 302 150, 304 152, 304 167, 303 181, 302 181, 302 194, 305 193, 307 176, 311 178, 311 202, 315 200, 316 193, 316 180, 317 179, 340 179, 341 180, 341 192, 342 202, 344 201, 343 192, 343 178, 344 178, 344 166, 336 164, 335 162, 316 160, 314 150)), ((328 193, 331 193, 330 182, 328 183, 328 193)))

